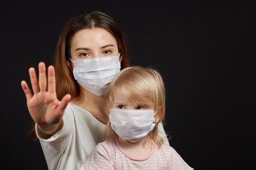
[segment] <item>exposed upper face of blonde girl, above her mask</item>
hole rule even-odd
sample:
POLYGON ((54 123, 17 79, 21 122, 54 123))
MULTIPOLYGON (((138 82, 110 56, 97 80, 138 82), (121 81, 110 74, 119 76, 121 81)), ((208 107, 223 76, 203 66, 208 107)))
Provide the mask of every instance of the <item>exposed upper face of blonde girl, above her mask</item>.
POLYGON ((112 103, 112 108, 127 109, 127 110, 141 110, 141 109, 151 109, 145 103, 131 103, 121 90, 116 89, 113 93, 114 101, 112 103))

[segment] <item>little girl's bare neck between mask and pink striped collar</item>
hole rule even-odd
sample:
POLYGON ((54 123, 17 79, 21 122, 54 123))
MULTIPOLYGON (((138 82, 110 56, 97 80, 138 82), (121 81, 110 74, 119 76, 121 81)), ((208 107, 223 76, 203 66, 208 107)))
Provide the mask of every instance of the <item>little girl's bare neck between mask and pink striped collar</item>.
POLYGON ((124 152, 134 160, 143 160, 148 158, 152 149, 154 149, 154 142, 150 140, 149 137, 143 137, 142 140, 134 143, 122 140, 121 137, 118 137, 117 140, 120 147, 124 149, 124 152))

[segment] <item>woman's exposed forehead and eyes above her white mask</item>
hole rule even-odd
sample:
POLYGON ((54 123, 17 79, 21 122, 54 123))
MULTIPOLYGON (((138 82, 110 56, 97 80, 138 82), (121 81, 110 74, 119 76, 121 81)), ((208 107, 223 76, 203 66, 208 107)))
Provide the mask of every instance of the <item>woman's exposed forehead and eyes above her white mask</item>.
MULTIPOLYGON (((92 57, 118 56, 117 40, 104 28, 85 28, 79 30, 71 40, 72 60, 92 57)), ((122 57, 119 57, 119 61, 122 57)))

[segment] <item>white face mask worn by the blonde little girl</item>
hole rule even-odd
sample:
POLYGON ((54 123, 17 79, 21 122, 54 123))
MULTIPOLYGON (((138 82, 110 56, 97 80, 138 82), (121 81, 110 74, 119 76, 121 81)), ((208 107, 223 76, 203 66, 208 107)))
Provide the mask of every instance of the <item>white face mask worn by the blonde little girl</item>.
POLYGON ((110 109, 111 128, 128 142, 137 142, 154 129, 153 110, 110 109))

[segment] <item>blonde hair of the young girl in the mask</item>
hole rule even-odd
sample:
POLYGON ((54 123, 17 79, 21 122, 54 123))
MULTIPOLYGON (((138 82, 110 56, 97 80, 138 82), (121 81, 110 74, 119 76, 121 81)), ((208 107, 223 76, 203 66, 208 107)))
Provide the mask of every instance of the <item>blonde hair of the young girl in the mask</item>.
MULTIPOLYGON (((119 89, 134 104, 149 106, 156 113, 154 130, 149 132, 149 139, 159 147, 164 142, 158 132, 158 123, 162 123, 165 115, 165 89, 159 72, 144 67, 127 67, 112 80, 105 92, 105 101, 112 107, 114 91, 119 89)), ((110 121, 105 129, 105 140, 112 140, 117 134, 112 130, 110 121)))

